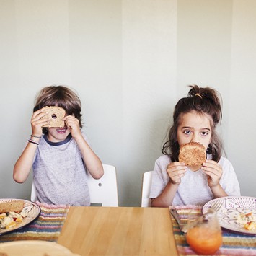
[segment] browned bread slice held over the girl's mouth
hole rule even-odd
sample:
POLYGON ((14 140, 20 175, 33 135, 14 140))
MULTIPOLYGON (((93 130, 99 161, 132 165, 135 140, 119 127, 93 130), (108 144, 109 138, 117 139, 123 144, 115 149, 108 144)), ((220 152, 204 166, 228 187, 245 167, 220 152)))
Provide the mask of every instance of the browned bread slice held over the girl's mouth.
POLYGON ((180 146, 179 162, 187 166, 198 166, 206 162, 206 149, 198 142, 190 142, 180 146))

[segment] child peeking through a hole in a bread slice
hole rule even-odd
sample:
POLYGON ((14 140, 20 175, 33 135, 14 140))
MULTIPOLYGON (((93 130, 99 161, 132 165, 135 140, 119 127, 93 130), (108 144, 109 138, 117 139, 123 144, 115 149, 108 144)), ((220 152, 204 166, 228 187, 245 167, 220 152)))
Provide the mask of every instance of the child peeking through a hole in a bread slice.
POLYGON ((81 102, 77 94, 63 86, 43 88, 37 95, 31 126, 27 146, 14 165, 14 180, 25 182, 32 167, 37 200, 89 206, 86 171, 94 179, 100 179, 103 167, 81 132, 81 102), (46 106, 66 110, 64 128, 43 128, 49 121, 43 118, 47 114, 41 110, 46 106))

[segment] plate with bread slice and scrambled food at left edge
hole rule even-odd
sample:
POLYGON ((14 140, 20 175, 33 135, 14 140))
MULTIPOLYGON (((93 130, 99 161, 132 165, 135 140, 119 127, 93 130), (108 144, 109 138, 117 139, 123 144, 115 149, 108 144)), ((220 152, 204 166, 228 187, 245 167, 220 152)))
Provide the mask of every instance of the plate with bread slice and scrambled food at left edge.
POLYGON ((0 199, 0 236, 27 226, 37 219, 40 212, 40 206, 29 200, 0 199))

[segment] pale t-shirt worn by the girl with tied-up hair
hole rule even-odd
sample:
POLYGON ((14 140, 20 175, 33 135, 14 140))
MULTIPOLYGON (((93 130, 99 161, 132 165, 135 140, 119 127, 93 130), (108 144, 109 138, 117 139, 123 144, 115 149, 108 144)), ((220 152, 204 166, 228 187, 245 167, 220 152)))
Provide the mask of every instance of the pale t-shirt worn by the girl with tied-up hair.
MULTIPOLYGON (((207 155, 207 159, 211 159, 211 155, 207 155)), ((170 163, 169 156, 163 155, 156 160, 154 172, 152 175, 152 184, 150 191, 150 198, 157 198, 164 187, 169 182, 167 174, 167 165, 170 163)), ((221 187, 225 190, 227 195, 239 196, 240 187, 237 180, 237 175, 234 168, 225 157, 221 157, 219 164, 222 167, 222 176, 220 180, 221 187)), ((186 205, 200 205, 203 206, 209 200, 212 200, 213 193, 207 182, 207 175, 202 169, 196 172, 187 168, 185 176, 181 178, 180 185, 173 199, 173 206, 186 206, 186 205)))

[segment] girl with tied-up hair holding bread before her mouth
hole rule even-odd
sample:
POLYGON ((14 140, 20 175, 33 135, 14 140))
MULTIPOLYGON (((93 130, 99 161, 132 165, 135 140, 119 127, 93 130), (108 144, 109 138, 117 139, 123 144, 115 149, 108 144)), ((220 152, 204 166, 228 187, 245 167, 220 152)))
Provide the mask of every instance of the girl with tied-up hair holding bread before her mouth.
POLYGON ((221 97, 211 88, 190 86, 188 97, 177 102, 169 139, 156 160, 151 184, 151 206, 203 205, 213 198, 240 195, 239 182, 228 159, 221 156, 216 133, 221 122, 221 97), (182 144, 203 144, 207 159, 203 166, 187 167, 179 162, 182 144))

